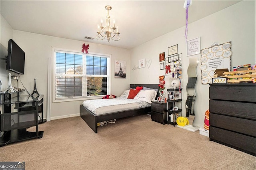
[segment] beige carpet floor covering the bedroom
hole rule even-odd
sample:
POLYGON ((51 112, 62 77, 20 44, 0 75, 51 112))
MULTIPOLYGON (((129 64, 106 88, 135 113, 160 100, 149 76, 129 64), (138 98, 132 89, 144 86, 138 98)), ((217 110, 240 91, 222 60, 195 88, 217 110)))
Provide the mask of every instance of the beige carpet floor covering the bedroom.
POLYGON ((26 170, 256 169, 255 156, 148 115, 118 119, 97 134, 81 117, 42 123, 39 130, 40 139, 0 147, 0 162, 25 162, 26 170))

